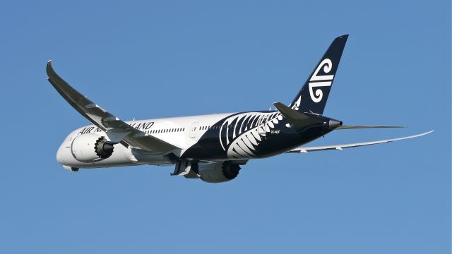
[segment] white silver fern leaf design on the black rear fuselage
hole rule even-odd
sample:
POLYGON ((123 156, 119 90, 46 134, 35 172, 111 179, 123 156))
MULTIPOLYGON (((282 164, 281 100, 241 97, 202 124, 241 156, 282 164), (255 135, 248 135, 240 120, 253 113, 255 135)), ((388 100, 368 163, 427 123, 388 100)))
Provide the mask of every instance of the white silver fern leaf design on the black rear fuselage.
POLYGON ((281 120, 280 112, 247 112, 231 116, 220 128, 220 145, 230 159, 256 157, 257 147, 281 120))

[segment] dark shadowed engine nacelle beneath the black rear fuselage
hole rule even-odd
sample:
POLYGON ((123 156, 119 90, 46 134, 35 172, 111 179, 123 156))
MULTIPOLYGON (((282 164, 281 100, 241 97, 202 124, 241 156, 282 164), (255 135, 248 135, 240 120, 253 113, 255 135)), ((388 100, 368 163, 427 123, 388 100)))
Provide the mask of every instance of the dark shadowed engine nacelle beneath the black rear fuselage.
POLYGON ((208 183, 231 181, 239 174, 240 166, 231 162, 198 164, 199 178, 208 183))

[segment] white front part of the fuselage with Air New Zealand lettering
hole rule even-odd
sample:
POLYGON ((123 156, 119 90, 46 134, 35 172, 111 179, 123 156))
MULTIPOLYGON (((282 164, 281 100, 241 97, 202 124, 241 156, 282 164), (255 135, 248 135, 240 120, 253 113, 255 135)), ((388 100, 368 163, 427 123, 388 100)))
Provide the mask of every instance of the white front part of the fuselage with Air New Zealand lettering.
MULTIPOLYGON (((165 119, 147 119, 137 121, 126 121, 129 125, 143 131, 147 135, 153 135, 155 138, 164 140, 167 143, 180 147, 180 154, 186 149, 198 142, 201 135, 208 131, 210 126, 220 121, 220 119, 230 116, 229 114, 208 114, 199 116, 182 116, 165 119)), ((78 135, 88 133, 99 133, 105 135, 105 132, 94 125, 84 126, 71 132, 63 143, 61 143, 57 152, 57 161, 66 167, 118 167, 131 166, 137 164, 159 164, 165 165, 171 162, 162 154, 137 153, 130 147, 117 144, 114 146, 114 153, 107 159, 96 162, 79 162, 74 158, 71 150, 73 140, 78 135)), ((107 135, 105 135, 107 136, 107 135)))

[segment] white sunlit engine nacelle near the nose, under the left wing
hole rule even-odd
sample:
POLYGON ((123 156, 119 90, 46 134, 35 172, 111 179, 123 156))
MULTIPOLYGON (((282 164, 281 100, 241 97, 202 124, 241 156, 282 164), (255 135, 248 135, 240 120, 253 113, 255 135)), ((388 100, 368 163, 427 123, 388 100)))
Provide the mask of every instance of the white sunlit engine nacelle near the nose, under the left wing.
POLYGON ((96 162, 112 156, 113 145, 105 136, 87 133, 73 139, 71 152, 79 162, 96 162))

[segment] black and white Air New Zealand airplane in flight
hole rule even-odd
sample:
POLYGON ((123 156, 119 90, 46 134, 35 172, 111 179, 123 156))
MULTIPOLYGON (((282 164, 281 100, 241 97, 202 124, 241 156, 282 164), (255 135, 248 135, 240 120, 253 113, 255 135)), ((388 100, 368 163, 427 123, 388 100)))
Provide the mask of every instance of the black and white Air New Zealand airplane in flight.
POLYGON ((91 123, 69 133, 57 152, 57 161, 69 171, 132 165, 174 165, 172 176, 222 183, 235 179, 250 159, 282 153, 343 150, 417 138, 345 145, 304 147, 334 130, 400 128, 404 126, 347 126, 323 116, 348 35, 331 43, 289 106, 276 110, 121 121, 66 83, 47 62, 49 82, 91 123))

